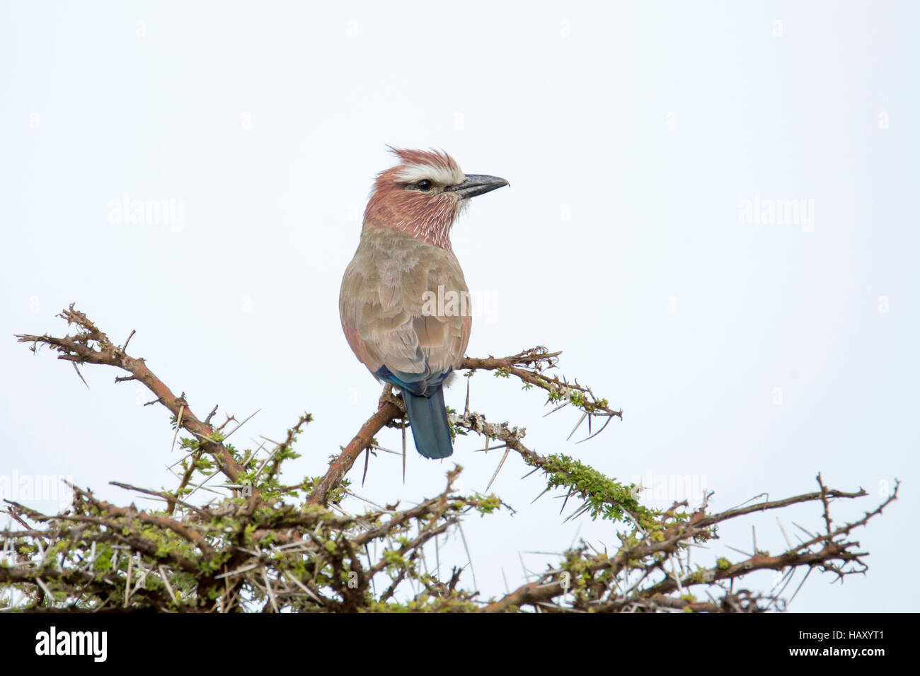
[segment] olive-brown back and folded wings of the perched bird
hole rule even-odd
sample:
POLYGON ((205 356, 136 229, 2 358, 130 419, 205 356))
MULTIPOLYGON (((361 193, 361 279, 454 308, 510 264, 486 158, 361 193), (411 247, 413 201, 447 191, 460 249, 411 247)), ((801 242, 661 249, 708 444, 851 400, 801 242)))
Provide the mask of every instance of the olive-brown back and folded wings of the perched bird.
POLYGON ((470 311, 453 253, 365 228, 342 279, 339 314, 351 349, 371 372, 385 366, 404 382, 440 382, 466 352, 470 311))

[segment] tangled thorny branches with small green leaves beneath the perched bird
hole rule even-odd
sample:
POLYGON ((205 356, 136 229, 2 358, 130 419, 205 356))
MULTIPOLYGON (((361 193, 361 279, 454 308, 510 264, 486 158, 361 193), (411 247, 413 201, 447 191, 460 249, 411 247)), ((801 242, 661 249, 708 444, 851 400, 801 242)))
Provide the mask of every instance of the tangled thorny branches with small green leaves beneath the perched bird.
MULTIPOLYGON (((799 570, 802 581, 815 568, 835 579, 864 572, 867 553, 859 551, 851 534, 897 498, 896 484, 891 496, 863 518, 835 525, 834 500, 863 498, 866 493, 834 490, 818 475, 818 491, 790 498, 721 512, 711 512, 708 499, 692 511, 685 503, 650 510, 639 503, 637 487, 620 484, 568 456, 535 453, 523 443, 523 428, 490 423, 469 409, 467 397, 465 411, 452 415, 451 423, 457 434, 482 436, 487 449, 492 442, 497 444, 492 448, 504 449, 493 482, 514 452, 533 468, 531 473, 545 476, 544 493, 556 488, 563 492, 563 510, 569 498, 578 501, 569 519, 587 513, 620 522, 620 542, 611 545, 609 553, 606 545, 599 552, 581 543, 560 554, 558 564, 547 567, 535 581, 498 599, 480 599, 477 591, 461 588, 462 568, 454 567, 449 576, 445 573, 448 579, 442 579, 440 568, 432 568, 426 557, 426 548, 430 556, 431 544, 437 544, 440 534, 459 528, 470 510, 489 514, 505 506, 494 495, 456 493, 459 467, 448 472, 439 495, 408 509, 374 507, 351 514, 342 507, 352 495, 345 476, 361 453, 379 448, 374 435, 385 426, 403 427, 405 407, 389 388, 325 475, 283 486, 283 463, 296 457, 293 446, 312 419, 309 415, 298 419, 284 441, 266 439, 270 449, 263 451, 263 443, 255 451, 240 453, 225 440, 251 416, 229 432, 224 428, 236 421, 232 416, 219 427, 211 425, 217 407, 201 421, 184 393, 175 396, 143 359, 126 353, 133 331, 120 348, 73 305, 61 316, 77 326, 74 335, 17 338, 31 342, 32 349, 47 345, 60 353, 59 359, 75 364, 111 365, 130 372, 116 380, 144 383, 156 395, 151 403, 167 407, 177 428, 193 438, 182 440, 187 455, 176 491, 112 482, 162 500, 163 511, 138 510, 133 504, 119 507, 79 487, 73 487, 71 508, 56 515, 7 501, 16 527, 11 522, 0 532, 0 610, 495 613, 529 607, 541 613, 762 612, 781 607, 781 594, 799 570), (260 457, 260 452, 267 455, 260 457), (190 502, 215 471, 226 476, 224 487, 232 496, 205 505, 190 502), (821 504, 822 533, 809 533, 799 544, 786 538, 788 548, 778 555, 759 550, 755 542, 753 553, 742 561, 719 558, 708 567, 690 566, 690 552, 715 540, 719 524, 807 503, 821 504), (734 582, 767 568, 784 572, 781 585, 765 593, 736 588, 734 582), (704 590, 707 600, 697 599, 696 590, 704 590)), ((558 355, 535 348, 500 359, 466 359, 462 368, 468 375, 490 370, 520 379, 525 389, 541 388, 547 403, 580 408, 579 424, 585 418, 589 425, 592 418, 622 418, 590 388, 548 377, 545 371, 557 365, 558 355)))

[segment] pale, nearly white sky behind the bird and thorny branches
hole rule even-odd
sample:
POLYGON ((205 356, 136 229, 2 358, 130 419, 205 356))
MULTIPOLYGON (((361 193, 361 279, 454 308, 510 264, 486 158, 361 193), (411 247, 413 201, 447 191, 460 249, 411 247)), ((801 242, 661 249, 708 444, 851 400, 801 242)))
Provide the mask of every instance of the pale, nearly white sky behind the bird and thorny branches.
MULTIPOLYGON (((371 182, 387 143, 443 148, 511 181, 454 228, 485 309, 468 354, 562 349, 560 372, 624 419, 566 441, 578 413, 543 418, 541 395, 486 372, 472 407, 526 427, 538 453, 705 487, 718 510, 810 492, 820 471, 869 491, 834 504, 857 519, 900 478, 902 498, 854 535, 868 574, 841 587, 815 572, 790 610, 914 610, 918 19, 907 2, 2 2, 0 473, 70 476, 121 503, 144 504, 111 480, 175 485, 152 396, 92 366, 87 390, 15 343, 61 334, 54 315, 75 302, 113 339, 136 329, 129 352, 199 417, 260 408, 237 444, 312 413, 285 476, 321 474, 380 393, 338 315, 371 182), (138 200, 168 218, 120 215, 138 200)), ((481 447, 451 458, 467 491, 500 461, 481 447)), ((440 492, 453 464, 409 451, 405 485, 382 453, 356 490, 440 492)), ((465 523, 484 598, 523 583, 522 557, 556 560, 528 552, 616 543, 609 523, 563 524, 558 499, 530 505, 544 482, 526 471, 512 456, 492 487, 515 516, 465 523)), ((671 492, 646 502, 684 498, 671 492)), ((822 524, 816 505, 782 518, 822 524)), ((726 525, 696 563, 739 560, 725 545, 750 551, 752 523, 761 549, 784 548, 769 515, 726 525)), ((457 534, 441 552, 466 561, 457 534)))

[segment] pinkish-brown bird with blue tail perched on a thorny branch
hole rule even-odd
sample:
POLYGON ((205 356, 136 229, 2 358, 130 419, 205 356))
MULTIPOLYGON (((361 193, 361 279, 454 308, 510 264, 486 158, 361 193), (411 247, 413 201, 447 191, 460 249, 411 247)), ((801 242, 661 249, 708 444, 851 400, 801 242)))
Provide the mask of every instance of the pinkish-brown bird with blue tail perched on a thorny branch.
POLYGON ((342 276, 339 316, 351 351, 402 392, 416 450, 454 453, 443 387, 466 354, 469 290, 451 228, 469 200, 510 185, 465 174, 443 150, 388 146, 364 210, 361 238, 342 276))

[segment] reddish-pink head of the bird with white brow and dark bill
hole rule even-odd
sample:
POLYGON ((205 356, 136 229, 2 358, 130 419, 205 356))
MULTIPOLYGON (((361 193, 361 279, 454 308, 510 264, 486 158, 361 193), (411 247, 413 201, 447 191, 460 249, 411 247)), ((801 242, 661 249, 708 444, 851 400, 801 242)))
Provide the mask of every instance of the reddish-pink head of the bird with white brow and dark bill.
POLYGON ((390 150, 400 162, 377 175, 365 226, 392 228, 450 250, 451 226, 469 199, 509 185, 504 178, 464 174, 443 151, 390 150))

